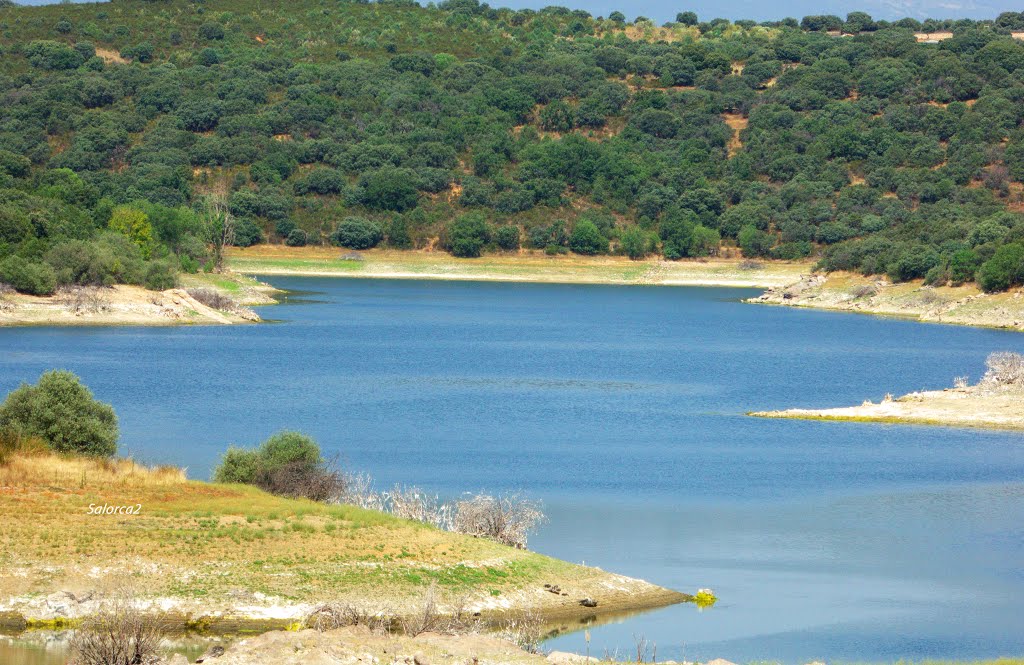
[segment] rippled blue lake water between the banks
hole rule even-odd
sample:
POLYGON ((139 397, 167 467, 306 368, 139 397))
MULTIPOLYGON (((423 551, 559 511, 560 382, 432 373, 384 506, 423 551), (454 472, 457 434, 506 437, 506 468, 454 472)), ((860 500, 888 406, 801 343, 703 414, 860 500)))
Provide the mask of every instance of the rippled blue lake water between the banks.
POLYGON ((1020 334, 741 289, 270 281, 303 292, 272 324, 0 330, 0 390, 71 369, 124 453, 198 477, 297 428, 382 487, 522 489, 532 549, 721 598, 595 627, 593 655, 1024 654, 1024 435, 743 415, 976 379, 1020 334))

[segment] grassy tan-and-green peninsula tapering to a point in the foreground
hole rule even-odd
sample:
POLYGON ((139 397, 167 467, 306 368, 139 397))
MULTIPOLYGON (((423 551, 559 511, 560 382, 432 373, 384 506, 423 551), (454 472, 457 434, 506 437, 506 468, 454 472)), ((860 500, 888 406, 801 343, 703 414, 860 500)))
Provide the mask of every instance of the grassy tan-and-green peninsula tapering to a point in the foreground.
POLYGON ((8 628, 84 618, 126 588, 180 627, 223 630, 301 623, 327 602, 415 613, 431 585, 442 608, 464 604, 496 620, 523 612, 579 619, 689 597, 374 510, 130 460, 15 455, 0 465, 0 623, 8 628), (104 505, 138 513, 90 514, 104 505))

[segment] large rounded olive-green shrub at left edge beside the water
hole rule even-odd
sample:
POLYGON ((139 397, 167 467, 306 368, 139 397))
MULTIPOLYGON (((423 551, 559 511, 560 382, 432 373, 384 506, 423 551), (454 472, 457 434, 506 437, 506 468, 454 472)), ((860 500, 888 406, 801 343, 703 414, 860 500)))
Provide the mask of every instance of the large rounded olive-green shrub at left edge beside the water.
POLYGON ((71 372, 46 372, 22 384, 0 405, 0 430, 38 437, 61 453, 110 457, 118 447, 118 419, 71 372))

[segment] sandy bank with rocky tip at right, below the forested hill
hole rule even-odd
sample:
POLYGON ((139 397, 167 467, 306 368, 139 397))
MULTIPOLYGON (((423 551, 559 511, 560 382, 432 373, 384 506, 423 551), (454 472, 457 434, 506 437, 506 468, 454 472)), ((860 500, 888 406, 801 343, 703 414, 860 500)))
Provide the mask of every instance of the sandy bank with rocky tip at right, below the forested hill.
POLYGON ((804 276, 748 302, 1024 330, 1024 289, 989 294, 973 284, 930 287, 921 281, 892 284, 885 279, 833 273, 804 276))

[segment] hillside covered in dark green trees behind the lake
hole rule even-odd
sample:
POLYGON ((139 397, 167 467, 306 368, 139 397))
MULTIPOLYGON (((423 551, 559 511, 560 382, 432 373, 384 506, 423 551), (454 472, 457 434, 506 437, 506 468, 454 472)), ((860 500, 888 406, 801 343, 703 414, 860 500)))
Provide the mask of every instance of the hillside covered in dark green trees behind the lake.
POLYGON ((0 282, 165 288, 223 241, 1024 282, 1024 14, 677 20, 2 5, 0 282))

